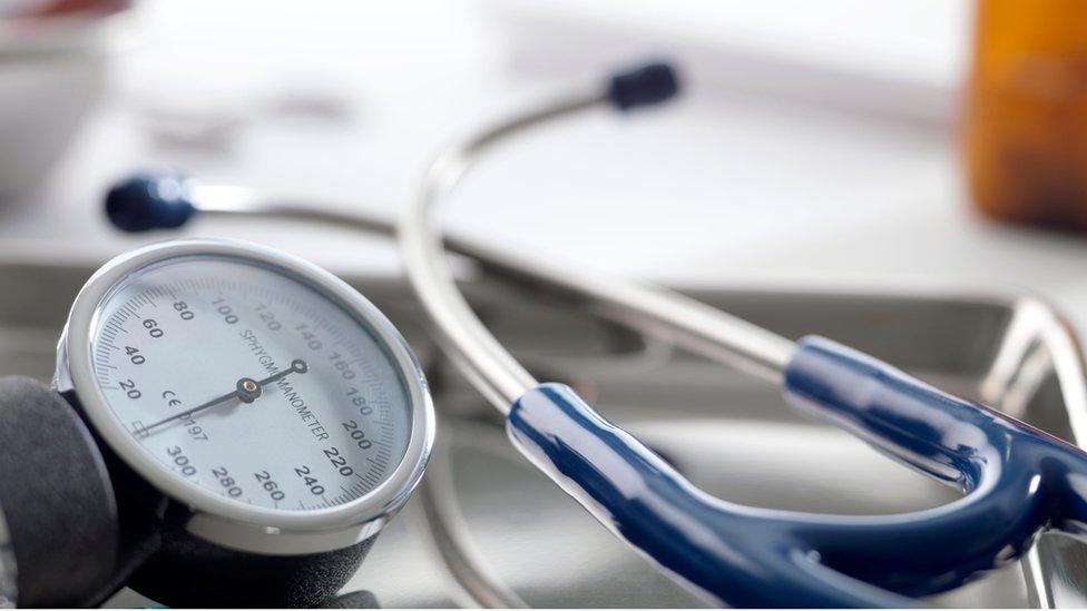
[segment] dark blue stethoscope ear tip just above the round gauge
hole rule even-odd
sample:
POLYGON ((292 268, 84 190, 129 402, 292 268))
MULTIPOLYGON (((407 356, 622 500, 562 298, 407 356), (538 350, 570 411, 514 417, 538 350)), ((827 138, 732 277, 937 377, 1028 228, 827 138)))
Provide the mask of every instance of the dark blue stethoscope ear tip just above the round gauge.
POLYGON ((180 175, 140 174, 106 194, 106 216, 124 231, 180 227, 196 214, 189 196, 193 180, 180 175))

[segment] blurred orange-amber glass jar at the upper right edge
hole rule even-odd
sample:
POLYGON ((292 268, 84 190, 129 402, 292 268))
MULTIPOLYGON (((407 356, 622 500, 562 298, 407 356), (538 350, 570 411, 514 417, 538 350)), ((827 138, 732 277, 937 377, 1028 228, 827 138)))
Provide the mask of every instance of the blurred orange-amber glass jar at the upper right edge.
POLYGON ((1087 2, 978 1, 961 136, 981 210, 1087 231, 1087 2))

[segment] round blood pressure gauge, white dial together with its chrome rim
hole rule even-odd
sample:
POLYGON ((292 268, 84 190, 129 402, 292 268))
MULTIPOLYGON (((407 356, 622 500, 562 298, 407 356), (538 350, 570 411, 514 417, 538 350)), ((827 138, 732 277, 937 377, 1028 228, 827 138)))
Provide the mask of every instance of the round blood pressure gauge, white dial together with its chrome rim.
POLYGON ((237 242, 109 262, 76 298, 56 385, 114 462, 183 507, 187 533, 256 554, 373 536, 434 435, 420 367, 373 304, 237 242))

